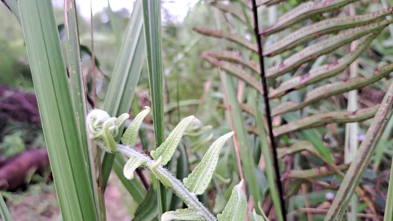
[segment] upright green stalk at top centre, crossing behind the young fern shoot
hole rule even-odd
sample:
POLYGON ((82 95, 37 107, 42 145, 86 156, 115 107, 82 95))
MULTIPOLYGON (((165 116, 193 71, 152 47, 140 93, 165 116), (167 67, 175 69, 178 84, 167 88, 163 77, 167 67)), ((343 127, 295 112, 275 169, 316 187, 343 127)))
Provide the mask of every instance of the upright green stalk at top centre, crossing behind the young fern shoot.
MULTIPOLYGON (((154 137, 156 147, 164 142, 164 102, 161 58, 161 0, 143 0, 143 20, 147 51, 147 69, 149 70, 149 87, 153 112, 154 137)), ((157 181, 158 182, 158 181, 157 181)), ((166 212, 166 190, 159 183, 158 214, 166 212)))

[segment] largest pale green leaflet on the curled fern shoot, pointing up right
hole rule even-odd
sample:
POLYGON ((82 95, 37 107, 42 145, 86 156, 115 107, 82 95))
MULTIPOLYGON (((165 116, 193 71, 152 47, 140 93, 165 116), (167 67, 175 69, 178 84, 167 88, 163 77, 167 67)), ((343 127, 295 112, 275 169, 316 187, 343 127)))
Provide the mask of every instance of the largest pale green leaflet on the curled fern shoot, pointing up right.
POLYGON ((193 193, 202 194, 208 187, 217 166, 222 146, 234 134, 233 131, 222 135, 208 149, 193 172, 184 178, 184 185, 193 193))

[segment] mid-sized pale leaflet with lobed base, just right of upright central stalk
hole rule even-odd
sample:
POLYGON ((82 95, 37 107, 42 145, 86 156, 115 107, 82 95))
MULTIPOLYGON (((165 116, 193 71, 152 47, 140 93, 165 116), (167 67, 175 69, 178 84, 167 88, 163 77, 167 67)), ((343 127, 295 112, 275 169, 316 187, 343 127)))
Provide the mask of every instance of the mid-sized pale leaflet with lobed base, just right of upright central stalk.
POLYGON ((182 120, 169 134, 168 138, 156 150, 151 151, 151 156, 154 160, 162 156, 162 164, 165 165, 171 160, 177 145, 182 139, 185 129, 193 121, 195 116, 191 115, 182 120))

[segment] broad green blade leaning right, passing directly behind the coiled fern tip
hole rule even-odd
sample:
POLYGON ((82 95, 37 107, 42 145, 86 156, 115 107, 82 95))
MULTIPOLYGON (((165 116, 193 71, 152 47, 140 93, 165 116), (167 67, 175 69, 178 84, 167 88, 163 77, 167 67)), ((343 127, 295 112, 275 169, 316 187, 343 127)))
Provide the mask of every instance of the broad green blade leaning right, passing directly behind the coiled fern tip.
MULTIPOLYGON (((131 107, 135 88, 145 61, 145 38, 143 37, 142 5, 137 1, 129 21, 129 25, 121 46, 119 57, 110 81, 107 98, 103 109, 110 116, 128 113, 131 107)), ((119 128, 123 131, 123 128, 119 128)), ((116 140, 119 140, 122 133, 116 140)), ((104 187, 107 186, 114 155, 105 153, 102 162, 104 187)))

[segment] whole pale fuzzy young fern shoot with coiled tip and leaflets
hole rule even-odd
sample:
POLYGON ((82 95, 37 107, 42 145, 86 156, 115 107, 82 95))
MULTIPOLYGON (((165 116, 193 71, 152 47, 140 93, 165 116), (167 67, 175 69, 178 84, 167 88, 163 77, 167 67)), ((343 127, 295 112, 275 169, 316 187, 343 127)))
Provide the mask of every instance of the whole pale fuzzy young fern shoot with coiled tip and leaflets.
POLYGON ((243 180, 233 188, 228 204, 222 214, 219 214, 217 218, 211 214, 208 208, 199 202, 196 197, 197 194, 202 194, 208 188, 208 184, 217 166, 222 146, 234 132, 231 131, 230 133, 224 134, 213 142, 200 164, 198 164, 194 171, 184 179, 183 183, 176 179, 176 177, 163 166, 172 158, 185 129, 187 129, 188 125, 195 117, 189 116, 184 118, 184 120, 182 120, 169 134, 165 142, 163 142, 156 151, 151 152, 152 159, 141 151, 132 149, 132 146, 136 142, 138 130, 142 121, 149 112, 150 108, 145 107, 145 110, 135 117, 121 138, 123 144, 119 144, 116 143, 114 137, 118 135, 119 127, 129 118, 129 114, 122 114, 119 118, 111 118, 104 110, 92 110, 87 117, 90 136, 105 151, 118 153, 129 158, 123 171, 127 179, 133 179, 135 169, 139 166, 143 166, 149 169, 149 171, 167 188, 171 188, 188 206, 186 209, 165 212, 162 214, 161 220, 217 221, 218 218, 219 221, 244 221, 246 217, 247 202, 246 196, 241 190, 244 182, 243 180))

